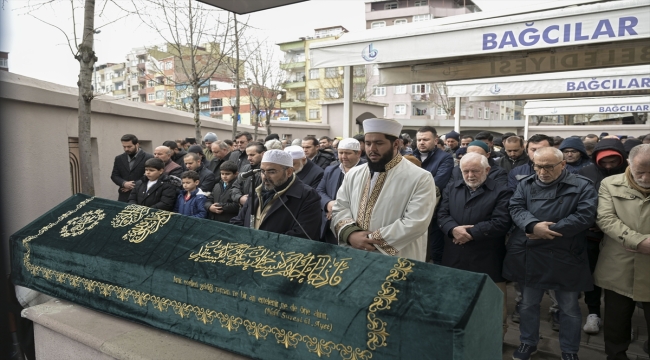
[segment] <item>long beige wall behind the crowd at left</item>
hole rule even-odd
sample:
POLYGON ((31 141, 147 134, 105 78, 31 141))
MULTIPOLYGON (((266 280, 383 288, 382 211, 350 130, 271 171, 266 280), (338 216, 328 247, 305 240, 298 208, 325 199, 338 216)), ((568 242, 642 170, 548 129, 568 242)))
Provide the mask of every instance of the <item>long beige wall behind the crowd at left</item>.
MULTIPOLYGON (((193 137, 191 114, 110 97, 93 101, 92 137, 95 192, 117 199, 110 179, 116 155, 123 152, 120 137, 138 136, 146 151, 165 140, 193 137)), ((72 195, 68 139, 77 137, 77 89, 21 75, 0 72, 0 186, 3 190, 2 245, 9 236, 72 195)), ((232 125, 204 117, 202 134, 230 138, 232 125)), ((308 134, 334 136, 330 126, 271 122, 274 133, 302 138, 308 134)), ((253 133, 252 126, 238 126, 253 133)), ((266 129, 260 129, 262 140, 266 129)), ((8 254, 8 252, 7 252, 8 254)), ((8 261, 3 263, 8 267, 8 261)))

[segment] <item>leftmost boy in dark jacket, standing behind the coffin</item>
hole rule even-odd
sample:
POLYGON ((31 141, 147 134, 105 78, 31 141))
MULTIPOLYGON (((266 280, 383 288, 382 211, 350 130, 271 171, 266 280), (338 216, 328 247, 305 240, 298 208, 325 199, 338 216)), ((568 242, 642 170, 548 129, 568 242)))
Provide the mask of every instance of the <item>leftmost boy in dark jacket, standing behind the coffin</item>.
POLYGON ((171 211, 176 200, 176 184, 164 174, 165 163, 152 158, 144 163, 144 176, 135 183, 129 204, 171 211))

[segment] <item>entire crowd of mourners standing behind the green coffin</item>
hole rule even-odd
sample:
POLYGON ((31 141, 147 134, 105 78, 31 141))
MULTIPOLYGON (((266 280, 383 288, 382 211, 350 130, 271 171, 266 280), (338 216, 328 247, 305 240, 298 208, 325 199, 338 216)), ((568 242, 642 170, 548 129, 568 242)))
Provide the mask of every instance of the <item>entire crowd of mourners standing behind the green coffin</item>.
POLYGON ((292 142, 208 133, 203 146, 170 140, 153 154, 124 135, 111 179, 119 201, 487 274, 504 293, 504 335, 515 282, 513 359, 537 351, 545 294, 562 359, 578 359, 581 328, 601 327, 607 358, 627 359, 636 306, 650 328, 650 134, 442 140, 389 119, 363 128, 292 142))

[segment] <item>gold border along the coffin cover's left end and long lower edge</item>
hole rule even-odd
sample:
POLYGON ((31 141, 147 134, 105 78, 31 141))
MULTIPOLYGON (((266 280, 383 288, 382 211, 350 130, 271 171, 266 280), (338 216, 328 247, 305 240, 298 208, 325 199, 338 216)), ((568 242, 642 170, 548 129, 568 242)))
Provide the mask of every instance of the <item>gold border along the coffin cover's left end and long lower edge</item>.
MULTIPOLYGON (((166 312, 171 307, 174 313, 181 318, 189 319, 190 315, 194 314, 196 320, 202 322, 205 325, 212 324, 216 319, 219 320, 221 327, 226 328, 229 332, 239 331, 240 325, 243 324, 248 335, 255 337, 256 340, 266 340, 266 337, 269 334, 273 334, 275 336, 276 342, 278 344, 284 345, 285 348, 296 348, 299 343, 304 343, 309 352, 315 353, 319 357, 322 355, 329 357, 332 351, 338 351, 341 359, 343 360, 369 360, 372 358, 372 353, 368 350, 362 350, 360 348, 353 349, 351 346, 344 344, 336 344, 333 341, 326 341, 324 339, 318 339, 317 337, 310 337, 309 335, 301 335, 299 333, 286 331, 277 327, 271 327, 262 323, 256 323, 248 319, 242 319, 240 317, 235 317, 233 315, 225 314, 215 310, 182 303, 176 300, 170 300, 132 289, 126 289, 116 285, 110 285, 99 281, 86 279, 77 275, 70 275, 38 265, 33 265, 30 260, 31 249, 29 247, 29 242, 41 236, 61 221, 65 220, 67 217, 84 207, 93 199, 94 197, 82 201, 81 203, 77 204, 77 207, 74 210, 70 210, 62 214, 55 222, 52 222, 41 228, 36 235, 28 236, 23 239, 23 246, 25 246, 26 249, 25 255, 23 257, 23 263, 25 265, 25 268, 33 276, 42 276, 48 281, 57 281, 62 285, 69 285, 75 288, 79 288, 83 285, 83 289, 88 292, 95 293, 95 291, 98 291, 98 294, 104 297, 115 296, 121 301, 128 301, 129 299, 132 299, 133 302, 138 306, 148 306, 148 304, 151 303, 152 307, 160 312, 166 312)), ((391 273, 392 271, 393 270, 391 270, 391 273)))

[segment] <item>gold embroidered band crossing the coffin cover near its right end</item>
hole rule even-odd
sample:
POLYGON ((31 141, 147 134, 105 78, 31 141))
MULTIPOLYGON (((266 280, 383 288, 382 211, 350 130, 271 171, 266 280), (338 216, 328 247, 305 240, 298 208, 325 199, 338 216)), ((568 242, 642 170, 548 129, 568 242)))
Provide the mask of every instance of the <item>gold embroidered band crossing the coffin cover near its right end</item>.
POLYGON ((397 281, 406 280, 406 276, 413 272, 415 264, 410 260, 398 258, 397 263, 390 270, 386 281, 381 285, 381 290, 377 292, 374 301, 368 307, 368 342, 366 345, 370 350, 375 350, 382 346, 387 346, 386 338, 390 335, 386 331, 386 322, 377 317, 377 312, 390 309, 390 304, 397 301, 399 290, 395 289, 393 284, 397 281))

